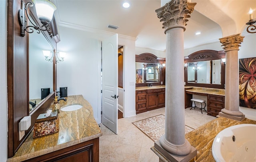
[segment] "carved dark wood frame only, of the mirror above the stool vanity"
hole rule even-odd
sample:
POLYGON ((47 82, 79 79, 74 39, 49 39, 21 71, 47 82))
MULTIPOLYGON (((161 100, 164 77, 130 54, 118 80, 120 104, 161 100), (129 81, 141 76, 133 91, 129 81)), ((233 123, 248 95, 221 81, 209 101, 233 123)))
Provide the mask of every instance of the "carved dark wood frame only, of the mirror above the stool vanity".
POLYGON ((201 62, 208 60, 220 60, 226 57, 224 51, 215 51, 215 50, 200 50, 190 54, 189 56, 184 57, 184 77, 186 86, 195 86, 195 87, 206 87, 206 88, 225 88, 225 64, 221 61, 221 84, 204 84, 204 83, 192 83, 188 82, 188 63, 190 62, 201 62))

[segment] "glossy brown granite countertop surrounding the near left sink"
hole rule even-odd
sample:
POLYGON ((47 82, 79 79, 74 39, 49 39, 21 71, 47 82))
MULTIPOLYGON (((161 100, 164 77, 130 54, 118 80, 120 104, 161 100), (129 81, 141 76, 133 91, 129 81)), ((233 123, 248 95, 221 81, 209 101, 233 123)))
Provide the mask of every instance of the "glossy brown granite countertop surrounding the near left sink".
POLYGON ((27 160, 102 136, 90 103, 82 95, 68 96, 66 99, 66 102, 59 101, 60 108, 72 104, 81 104, 83 107, 71 112, 60 110, 59 132, 33 139, 32 131, 17 153, 8 158, 7 162, 27 160))

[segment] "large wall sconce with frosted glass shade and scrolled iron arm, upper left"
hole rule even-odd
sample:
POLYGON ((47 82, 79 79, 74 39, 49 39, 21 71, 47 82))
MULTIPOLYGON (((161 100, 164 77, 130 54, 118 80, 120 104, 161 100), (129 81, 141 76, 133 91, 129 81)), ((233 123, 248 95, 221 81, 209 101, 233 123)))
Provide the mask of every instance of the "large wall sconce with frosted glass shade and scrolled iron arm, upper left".
MULTIPOLYGON (((31 29, 30 27, 34 28, 35 30, 37 30, 37 33, 40 33, 41 31, 48 31, 48 33, 51 35, 52 32, 50 32, 49 29, 49 22, 52 20, 52 16, 54 11, 56 10, 56 6, 48 1, 48 0, 32 0, 32 2, 28 2, 28 3, 24 3, 23 1, 21 1, 21 9, 18 10, 18 20, 19 20, 19 24, 20 24, 20 35, 21 36, 25 36, 25 31, 28 33, 32 33, 34 32, 33 29, 31 29), (34 2, 35 7, 36 7, 36 15, 39 18, 39 20, 41 21, 41 23, 43 24, 41 26, 41 28, 37 25, 35 25, 31 19, 30 16, 28 14, 28 7, 32 7, 34 6, 34 4, 32 3, 34 2), (26 15, 25 16, 25 11, 26 11, 26 15), (27 26, 27 18, 30 21, 30 23, 33 26, 27 26)), ((51 35, 52 37, 52 35, 51 35)))

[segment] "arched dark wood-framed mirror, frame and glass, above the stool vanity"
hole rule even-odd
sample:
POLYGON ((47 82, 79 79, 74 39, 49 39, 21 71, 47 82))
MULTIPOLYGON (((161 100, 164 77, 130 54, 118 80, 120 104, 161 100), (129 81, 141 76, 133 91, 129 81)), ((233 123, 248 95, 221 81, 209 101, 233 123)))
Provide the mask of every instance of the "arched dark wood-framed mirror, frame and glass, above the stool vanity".
POLYGON ((221 88, 225 85, 224 51, 201 50, 184 58, 187 86, 221 88))

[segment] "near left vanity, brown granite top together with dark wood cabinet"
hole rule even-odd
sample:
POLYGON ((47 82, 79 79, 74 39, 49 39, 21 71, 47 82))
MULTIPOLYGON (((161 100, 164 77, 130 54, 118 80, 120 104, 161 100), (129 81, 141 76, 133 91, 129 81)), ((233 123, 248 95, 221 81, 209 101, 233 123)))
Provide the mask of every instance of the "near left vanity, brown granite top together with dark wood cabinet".
MULTIPOLYGON (((94 119, 92 106, 82 95, 60 100, 60 108, 80 104, 79 110, 60 110, 59 132, 33 139, 33 131, 7 162, 36 161, 99 161, 99 137, 102 132, 94 119)), ((51 109, 53 104, 50 105, 51 109)))

